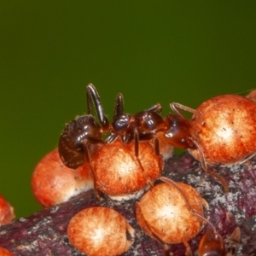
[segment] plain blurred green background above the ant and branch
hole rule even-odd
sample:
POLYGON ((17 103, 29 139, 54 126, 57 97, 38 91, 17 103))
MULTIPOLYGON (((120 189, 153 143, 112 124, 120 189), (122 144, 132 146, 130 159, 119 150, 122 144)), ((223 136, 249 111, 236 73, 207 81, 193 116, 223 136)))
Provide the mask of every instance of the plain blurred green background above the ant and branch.
POLYGON ((40 209, 34 166, 86 111, 93 83, 109 117, 116 94, 136 113, 196 108, 256 85, 255 1, 2 1, 0 193, 17 217, 40 209))

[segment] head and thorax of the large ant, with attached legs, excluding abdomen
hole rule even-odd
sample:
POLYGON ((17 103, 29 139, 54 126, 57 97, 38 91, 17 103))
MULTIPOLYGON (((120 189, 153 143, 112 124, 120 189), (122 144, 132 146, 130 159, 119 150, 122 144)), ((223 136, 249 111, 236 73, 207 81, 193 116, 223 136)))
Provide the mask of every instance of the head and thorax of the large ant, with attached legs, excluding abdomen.
MULTIPOLYGON (((228 185, 224 178, 207 168, 207 163, 202 154, 200 144, 197 143, 191 135, 192 128, 190 122, 177 108, 181 108, 191 113, 194 113, 195 109, 185 107, 179 103, 172 103, 170 106, 172 111, 177 114, 169 113, 164 119, 160 115, 160 103, 155 104, 142 112, 131 115, 129 113, 124 113, 124 99, 122 94, 119 93, 115 104, 113 123, 110 128, 111 134, 107 138, 108 143, 112 142, 118 136, 121 137, 123 143, 130 143, 131 140, 134 139, 135 154, 138 157, 139 142, 153 139, 155 152, 156 154, 160 154, 157 134, 161 131, 163 132, 164 141, 171 144, 173 147, 198 149, 199 154, 201 155, 202 168, 212 176, 217 177, 223 184, 225 192, 228 192, 228 185)), ((143 169, 143 166, 141 167, 143 169)))

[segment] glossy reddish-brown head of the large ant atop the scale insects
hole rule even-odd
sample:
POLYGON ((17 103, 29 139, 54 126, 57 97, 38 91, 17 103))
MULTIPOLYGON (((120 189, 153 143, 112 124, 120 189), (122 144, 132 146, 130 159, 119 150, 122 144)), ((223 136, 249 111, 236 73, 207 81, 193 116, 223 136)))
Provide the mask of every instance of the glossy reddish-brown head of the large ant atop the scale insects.
POLYGON ((190 135, 190 124, 187 119, 176 114, 167 114, 164 140, 177 148, 195 148, 190 135))

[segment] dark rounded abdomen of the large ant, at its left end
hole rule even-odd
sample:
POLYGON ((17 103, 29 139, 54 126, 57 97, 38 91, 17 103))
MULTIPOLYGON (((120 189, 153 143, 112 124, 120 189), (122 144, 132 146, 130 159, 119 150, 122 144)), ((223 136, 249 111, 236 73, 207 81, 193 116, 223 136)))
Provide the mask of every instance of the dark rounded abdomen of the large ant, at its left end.
POLYGON ((102 143, 102 131, 91 115, 69 122, 61 133, 59 154, 65 166, 76 169, 90 161, 90 144, 102 143))

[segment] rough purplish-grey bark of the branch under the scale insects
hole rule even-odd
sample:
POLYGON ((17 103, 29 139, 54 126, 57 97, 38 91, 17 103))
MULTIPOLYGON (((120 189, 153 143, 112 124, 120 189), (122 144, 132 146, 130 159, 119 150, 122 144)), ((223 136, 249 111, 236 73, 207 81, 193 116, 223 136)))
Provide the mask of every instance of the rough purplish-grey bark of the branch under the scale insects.
MULTIPOLYGON (((210 206, 206 211, 207 218, 224 238, 230 236, 236 226, 241 228, 241 244, 237 247, 236 255, 256 255, 256 157, 241 166, 218 166, 214 170, 229 183, 228 195, 224 195, 218 181, 203 172, 200 163, 189 154, 167 160, 163 175, 174 181, 189 183, 199 191, 210 206)), ((84 255, 70 245, 67 224, 75 213, 92 206, 113 208, 136 229, 135 242, 123 255, 163 255, 163 248, 137 226, 134 200, 111 201, 106 197, 103 201, 97 201, 92 190, 56 207, 1 226, 0 246, 15 255, 84 255)), ((206 229, 189 241, 193 252, 196 252, 206 229)), ((170 255, 184 255, 184 251, 183 244, 172 245, 170 255)))

